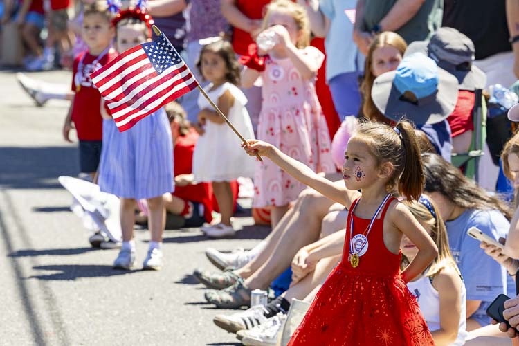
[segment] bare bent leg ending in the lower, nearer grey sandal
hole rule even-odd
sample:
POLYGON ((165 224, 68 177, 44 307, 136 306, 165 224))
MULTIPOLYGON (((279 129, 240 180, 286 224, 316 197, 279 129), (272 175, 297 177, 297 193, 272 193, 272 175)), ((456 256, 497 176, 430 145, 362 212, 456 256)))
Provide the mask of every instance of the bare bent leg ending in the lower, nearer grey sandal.
MULTIPOLYGON (((327 215, 331 205, 334 204, 329 199, 326 200, 327 203, 320 201, 320 206, 313 205, 311 208, 301 208, 301 210, 295 212, 295 222, 291 224, 291 228, 286 230, 280 242, 277 243, 271 257, 262 264, 260 269, 245 280, 245 284, 249 289, 266 289, 285 268, 290 266, 293 256, 302 246, 316 242, 320 234, 321 222, 327 215)), ((314 199, 314 201, 316 200, 314 199)), ((331 219, 338 217, 338 215, 339 213, 332 215, 331 219)), ((329 220, 326 221, 326 223, 329 222, 329 220)), ((345 221, 339 227, 332 223, 330 227, 339 227, 335 228, 338 230, 343 228, 344 224, 345 221)))

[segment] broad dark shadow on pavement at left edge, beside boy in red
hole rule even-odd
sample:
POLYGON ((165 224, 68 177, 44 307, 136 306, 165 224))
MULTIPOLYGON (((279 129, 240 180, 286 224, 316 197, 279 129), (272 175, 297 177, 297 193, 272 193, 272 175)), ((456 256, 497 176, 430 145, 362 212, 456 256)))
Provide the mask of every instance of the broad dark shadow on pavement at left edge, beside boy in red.
POLYGON ((78 149, 75 147, 0 148, 0 186, 8 189, 62 188, 60 175, 78 175, 78 149), (60 160, 56 160, 60 158, 60 160))

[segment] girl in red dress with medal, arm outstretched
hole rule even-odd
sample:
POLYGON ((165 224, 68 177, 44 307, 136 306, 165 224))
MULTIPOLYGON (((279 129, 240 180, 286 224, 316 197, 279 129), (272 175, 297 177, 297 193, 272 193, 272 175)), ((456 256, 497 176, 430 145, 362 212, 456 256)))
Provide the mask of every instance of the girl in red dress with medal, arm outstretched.
POLYGON ((345 188, 268 143, 250 140, 245 150, 269 158, 295 179, 349 206, 343 258, 289 345, 434 345, 406 282, 426 269, 437 247, 408 208, 394 198, 401 194, 408 201, 417 200, 424 186, 412 125, 405 121, 393 129, 360 125, 345 152, 345 188), (400 271, 403 235, 419 251, 400 271))

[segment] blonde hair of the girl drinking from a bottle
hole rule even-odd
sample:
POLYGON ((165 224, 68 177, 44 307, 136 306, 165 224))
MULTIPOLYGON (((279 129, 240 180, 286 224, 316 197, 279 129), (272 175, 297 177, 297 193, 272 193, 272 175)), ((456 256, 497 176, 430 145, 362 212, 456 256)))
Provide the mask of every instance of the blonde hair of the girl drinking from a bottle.
POLYGON ((301 5, 290 0, 273 0, 265 6, 265 8, 266 14, 263 20, 263 30, 268 28, 268 19, 271 17, 272 12, 282 12, 286 15, 290 15, 294 19, 295 25, 300 32, 298 42, 295 46, 304 48, 310 44, 310 23, 307 10, 301 5))

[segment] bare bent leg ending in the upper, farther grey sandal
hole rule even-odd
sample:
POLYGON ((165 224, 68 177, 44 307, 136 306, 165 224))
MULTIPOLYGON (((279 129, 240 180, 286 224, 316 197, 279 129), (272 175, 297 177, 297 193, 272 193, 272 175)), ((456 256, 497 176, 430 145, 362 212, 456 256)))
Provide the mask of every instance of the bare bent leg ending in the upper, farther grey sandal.
POLYGON ((302 246, 310 244, 319 237, 321 220, 333 203, 316 190, 306 189, 302 191, 293 208, 286 212, 277 227, 274 228, 270 239, 267 238, 265 250, 257 255, 254 260, 237 270, 236 273, 243 278, 247 278, 260 269, 265 262, 275 261, 280 255, 289 257, 288 262, 286 258, 283 258, 283 262, 287 262, 284 268, 289 266, 293 255, 302 246), (286 247, 280 247, 280 244, 286 247), (279 250, 277 255, 275 254, 276 249, 279 250))

